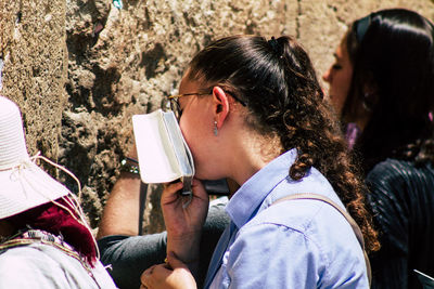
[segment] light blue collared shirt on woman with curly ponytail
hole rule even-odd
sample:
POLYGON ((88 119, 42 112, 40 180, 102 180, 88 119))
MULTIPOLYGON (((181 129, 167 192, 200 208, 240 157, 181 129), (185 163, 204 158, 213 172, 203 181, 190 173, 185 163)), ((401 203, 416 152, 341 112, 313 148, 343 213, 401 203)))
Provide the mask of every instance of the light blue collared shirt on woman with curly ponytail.
POLYGON ((289 176, 296 150, 272 160, 233 195, 231 218, 209 264, 205 288, 369 288, 362 250, 346 219, 316 200, 276 200, 297 193, 324 195, 345 208, 315 168, 289 176))

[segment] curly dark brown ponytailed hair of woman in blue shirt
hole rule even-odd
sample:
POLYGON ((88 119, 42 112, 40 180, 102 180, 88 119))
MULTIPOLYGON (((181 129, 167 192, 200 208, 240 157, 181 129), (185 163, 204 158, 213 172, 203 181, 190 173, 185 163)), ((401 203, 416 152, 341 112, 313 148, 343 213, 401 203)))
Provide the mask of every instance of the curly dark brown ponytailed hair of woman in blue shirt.
POLYGON ((190 79, 221 86, 246 104, 247 124, 263 135, 279 135, 284 153, 296 148, 293 180, 317 168, 358 223, 368 251, 380 248, 365 206, 367 188, 349 157, 341 127, 318 83, 305 50, 292 37, 219 39, 190 63, 190 79))

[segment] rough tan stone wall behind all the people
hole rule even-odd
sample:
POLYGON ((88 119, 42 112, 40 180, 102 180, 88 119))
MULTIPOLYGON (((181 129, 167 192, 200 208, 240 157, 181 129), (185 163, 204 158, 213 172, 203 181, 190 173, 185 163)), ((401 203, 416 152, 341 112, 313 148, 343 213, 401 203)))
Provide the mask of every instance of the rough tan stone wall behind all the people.
MULTIPOLYGON (((131 145, 131 115, 158 108, 212 39, 293 35, 321 75, 348 23, 392 6, 434 19, 433 0, 124 0, 122 9, 111 0, 2 0, 1 93, 23 110, 29 152, 78 176, 97 227, 131 145)), ((162 228, 157 195, 150 231, 162 228)))

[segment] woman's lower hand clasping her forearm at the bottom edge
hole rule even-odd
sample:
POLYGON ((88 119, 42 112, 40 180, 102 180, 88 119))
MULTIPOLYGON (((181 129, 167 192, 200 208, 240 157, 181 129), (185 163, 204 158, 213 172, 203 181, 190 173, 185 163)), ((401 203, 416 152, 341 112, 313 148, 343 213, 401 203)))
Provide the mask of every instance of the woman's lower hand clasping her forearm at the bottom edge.
POLYGON ((194 289, 196 283, 188 266, 174 253, 167 255, 167 264, 153 265, 142 273, 140 289, 171 288, 194 289))

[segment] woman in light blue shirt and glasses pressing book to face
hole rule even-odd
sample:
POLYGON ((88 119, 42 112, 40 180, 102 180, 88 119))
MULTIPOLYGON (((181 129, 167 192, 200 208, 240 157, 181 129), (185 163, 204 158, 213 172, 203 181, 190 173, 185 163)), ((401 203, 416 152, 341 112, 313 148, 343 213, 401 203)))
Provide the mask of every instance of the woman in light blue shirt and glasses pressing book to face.
MULTIPOLYGON (((357 229, 344 218, 346 209, 367 251, 378 248, 366 189, 310 60, 294 39, 217 40, 194 56, 179 92, 169 98, 178 106, 195 176, 241 185, 226 207, 231 222, 204 287, 367 288, 357 229), (288 199, 303 193, 322 201, 315 195, 288 199)), ((162 195, 168 263, 148 268, 141 288, 195 287, 208 196, 194 180, 186 207, 181 187, 169 184, 162 195)))

